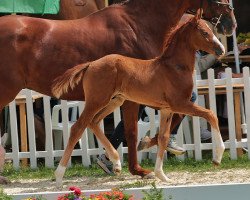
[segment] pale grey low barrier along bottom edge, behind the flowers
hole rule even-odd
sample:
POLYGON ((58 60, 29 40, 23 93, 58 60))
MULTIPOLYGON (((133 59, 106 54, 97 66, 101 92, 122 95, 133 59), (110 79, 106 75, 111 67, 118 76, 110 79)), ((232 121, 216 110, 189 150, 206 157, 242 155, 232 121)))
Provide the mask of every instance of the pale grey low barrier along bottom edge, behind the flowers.
MULTIPOLYGON (((160 187, 158 190, 162 192, 165 200, 211 200, 211 199, 226 199, 226 200, 248 200, 250 196, 250 183, 243 184, 213 184, 213 185, 192 185, 192 186, 166 186, 160 187)), ((86 190, 82 191, 86 197, 89 197, 91 194, 100 194, 105 191, 111 190, 86 190)), ((160 200, 161 197, 156 197, 157 194, 152 193, 152 188, 133 188, 126 189, 124 193, 128 195, 133 195, 135 200, 150 200, 145 198, 146 191, 147 195, 150 195, 149 198, 154 200, 160 200), (151 189, 151 190, 150 190, 151 189)), ((71 191, 72 192, 72 191, 71 191)), ((68 194, 69 192, 49 192, 49 193, 36 193, 36 194, 18 194, 13 195, 13 200, 23 200, 29 197, 36 196, 35 200, 57 200, 58 196, 68 194), (44 198, 44 199, 42 199, 44 198)), ((7 200, 6 198, 1 198, 7 200)), ((11 199, 8 199, 11 200, 11 199)), ((97 200, 97 199, 96 199, 97 200)))

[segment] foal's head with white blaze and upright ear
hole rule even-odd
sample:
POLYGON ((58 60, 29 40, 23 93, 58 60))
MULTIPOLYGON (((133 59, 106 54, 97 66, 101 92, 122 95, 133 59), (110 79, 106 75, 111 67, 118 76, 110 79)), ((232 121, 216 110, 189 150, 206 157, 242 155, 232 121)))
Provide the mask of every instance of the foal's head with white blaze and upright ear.
POLYGON ((192 23, 193 29, 191 39, 195 50, 203 50, 216 56, 222 56, 225 54, 225 48, 217 37, 213 34, 213 31, 209 28, 204 20, 201 19, 202 10, 199 9, 195 17, 191 19, 189 23, 192 23))

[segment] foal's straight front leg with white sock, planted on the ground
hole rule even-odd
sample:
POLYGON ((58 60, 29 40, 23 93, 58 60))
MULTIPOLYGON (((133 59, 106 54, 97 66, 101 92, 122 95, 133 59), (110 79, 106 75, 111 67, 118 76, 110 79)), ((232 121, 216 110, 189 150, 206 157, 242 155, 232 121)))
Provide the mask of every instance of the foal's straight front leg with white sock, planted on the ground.
POLYGON ((164 174, 162 169, 163 167, 163 158, 166 146, 169 142, 170 136, 170 125, 172 121, 173 113, 166 109, 160 110, 161 112, 161 121, 160 121, 160 131, 158 135, 158 151, 157 159, 155 163, 155 176, 164 182, 168 182, 170 179, 164 174))

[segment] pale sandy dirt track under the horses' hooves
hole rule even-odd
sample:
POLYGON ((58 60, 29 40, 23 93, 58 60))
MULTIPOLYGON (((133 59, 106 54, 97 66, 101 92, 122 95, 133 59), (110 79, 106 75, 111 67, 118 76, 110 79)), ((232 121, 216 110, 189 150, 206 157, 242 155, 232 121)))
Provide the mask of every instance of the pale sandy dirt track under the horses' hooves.
MULTIPOLYGON (((156 185, 178 186, 178 185, 205 185, 205 184, 225 184, 225 183, 250 183, 250 169, 229 169, 212 172, 169 172, 168 177, 171 183, 156 181, 156 185)), ((132 176, 122 173, 120 176, 106 176, 99 178, 79 177, 64 179, 63 188, 56 188, 55 181, 48 179, 39 180, 17 180, 9 185, 3 186, 7 194, 17 194, 25 192, 46 192, 65 191, 70 186, 80 187, 82 190, 89 189, 110 189, 125 186, 140 187, 150 185, 154 180, 143 180, 139 176, 132 176)))

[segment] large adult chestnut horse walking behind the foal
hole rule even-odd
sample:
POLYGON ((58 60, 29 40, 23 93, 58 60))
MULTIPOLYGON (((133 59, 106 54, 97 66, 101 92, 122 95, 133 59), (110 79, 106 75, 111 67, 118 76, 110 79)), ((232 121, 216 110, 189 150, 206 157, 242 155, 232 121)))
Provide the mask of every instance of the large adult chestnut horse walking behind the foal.
MULTIPOLYGON (((228 0, 130 0, 82 19, 66 21, 1 17, 0 110, 23 88, 52 96, 53 80, 76 64, 111 53, 154 58, 162 52, 166 34, 184 12, 199 7, 205 10, 208 20, 222 14, 218 24, 221 33, 230 35, 236 28, 228 0)), ((84 100, 82 94, 78 86, 62 98, 84 100)), ((129 170, 145 176, 150 171, 137 163, 137 113, 136 103, 124 103, 129 170)))

